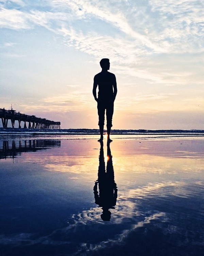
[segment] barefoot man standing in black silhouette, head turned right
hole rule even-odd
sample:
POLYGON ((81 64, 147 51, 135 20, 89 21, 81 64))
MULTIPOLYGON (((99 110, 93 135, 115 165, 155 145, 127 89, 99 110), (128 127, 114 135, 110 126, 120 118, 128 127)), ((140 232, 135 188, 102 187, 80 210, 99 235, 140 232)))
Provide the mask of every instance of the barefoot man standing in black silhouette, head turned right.
POLYGON ((102 71, 95 75, 93 95, 97 101, 97 109, 99 115, 99 129, 101 137, 98 141, 103 141, 103 127, 105 121, 105 110, 106 110, 106 121, 107 121, 107 141, 111 142, 110 133, 112 127, 114 101, 117 94, 116 77, 114 74, 108 72, 110 69, 109 59, 102 59, 100 61, 102 71), (98 86, 98 98, 96 96, 96 88, 98 86))

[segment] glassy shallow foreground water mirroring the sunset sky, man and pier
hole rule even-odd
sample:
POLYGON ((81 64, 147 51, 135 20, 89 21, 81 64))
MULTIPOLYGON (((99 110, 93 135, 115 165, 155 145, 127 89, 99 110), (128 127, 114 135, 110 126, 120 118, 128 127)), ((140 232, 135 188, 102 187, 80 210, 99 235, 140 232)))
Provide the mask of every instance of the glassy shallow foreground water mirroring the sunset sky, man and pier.
POLYGON ((105 142, 0 140, 0 255, 203 255, 204 140, 105 142))

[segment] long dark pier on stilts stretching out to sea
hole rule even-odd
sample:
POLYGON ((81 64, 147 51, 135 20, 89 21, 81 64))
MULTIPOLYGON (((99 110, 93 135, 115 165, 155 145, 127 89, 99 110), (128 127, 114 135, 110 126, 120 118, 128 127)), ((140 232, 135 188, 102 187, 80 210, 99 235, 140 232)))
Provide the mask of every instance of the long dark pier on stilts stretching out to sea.
POLYGON ((12 128, 14 128, 15 121, 18 122, 18 128, 32 128, 32 129, 60 129, 60 122, 47 120, 46 118, 36 117, 35 115, 25 115, 17 113, 15 110, 0 109, 0 118, 3 128, 8 125, 8 120, 11 120, 12 128), (21 126, 23 122, 23 126, 21 126))

